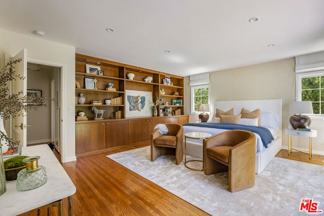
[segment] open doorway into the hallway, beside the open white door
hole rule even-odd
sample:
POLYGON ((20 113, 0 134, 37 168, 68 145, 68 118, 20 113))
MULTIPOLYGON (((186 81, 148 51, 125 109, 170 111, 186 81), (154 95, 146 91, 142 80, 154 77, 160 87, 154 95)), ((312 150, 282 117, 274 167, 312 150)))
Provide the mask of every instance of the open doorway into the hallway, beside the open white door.
POLYGON ((48 143, 61 153, 60 138, 61 68, 27 62, 27 92, 54 98, 48 106, 35 106, 27 115, 27 146, 48 143))

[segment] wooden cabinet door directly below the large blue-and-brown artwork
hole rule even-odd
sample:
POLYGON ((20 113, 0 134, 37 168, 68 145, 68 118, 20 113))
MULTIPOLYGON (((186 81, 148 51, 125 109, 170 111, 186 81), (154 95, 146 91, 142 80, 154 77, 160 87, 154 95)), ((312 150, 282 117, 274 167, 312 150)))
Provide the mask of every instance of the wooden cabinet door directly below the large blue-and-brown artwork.
POLYGON ((149 119, 130 120, 130 143, 147 141, 150 138, 149 119))

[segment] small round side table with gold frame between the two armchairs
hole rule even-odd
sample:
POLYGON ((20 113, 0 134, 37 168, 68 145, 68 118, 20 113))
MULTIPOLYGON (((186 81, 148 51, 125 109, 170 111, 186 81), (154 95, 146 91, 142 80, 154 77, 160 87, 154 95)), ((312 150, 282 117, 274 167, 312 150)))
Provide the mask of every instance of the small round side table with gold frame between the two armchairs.
POLYGON ((184 165, 188 169, 196 170, 196 171, 204 171, 205 166, 204 166, 204 154, 205 154, 205 140, 212 137, 211 134, 204 133, 204 132, 189 132, 184 134, 184 165), (187 160, 187 138, 190 139, 195 139, 195 140, 203 140, 203 159, 202 160, 187 160), (203 168, 202 169, 195 169, 192 167, 189 167, 187 165, 188 162, 192 161, 198 161, 198 162, 203 162, 203 168))

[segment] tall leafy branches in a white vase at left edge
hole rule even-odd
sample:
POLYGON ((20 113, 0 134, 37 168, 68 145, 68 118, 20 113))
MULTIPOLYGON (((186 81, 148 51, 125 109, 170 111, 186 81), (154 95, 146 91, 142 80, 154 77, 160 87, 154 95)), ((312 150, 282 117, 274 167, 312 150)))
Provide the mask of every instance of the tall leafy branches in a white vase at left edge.
MULTIPOLYGON (((14 146, 19 145, 18 142, 13 142, 7 136, 3 120, 15 118, 24 115, 24 112, 29 112, 31 109, 37 110, 37 106, 27 106, 28 104, 37 105, 42 104, 47 106, 46 101, 52 100, 46 97, 35 97, 23 95, 23 92, 17 94, 10 94, 8 85, 11 81, 16 79, 24 79, 24 77, 15 74, 15 64, 20 62, 21 59, 10 61, 5 67, 0 69, 0 147, 7 147, 14 149, 14 146)), ((22 160, 22 159, 21 159, 22 160)), ((0 195, 6 191, 6 180, 4 171, 4 162, 2 157, 2 149, 0 149, 0 195)))

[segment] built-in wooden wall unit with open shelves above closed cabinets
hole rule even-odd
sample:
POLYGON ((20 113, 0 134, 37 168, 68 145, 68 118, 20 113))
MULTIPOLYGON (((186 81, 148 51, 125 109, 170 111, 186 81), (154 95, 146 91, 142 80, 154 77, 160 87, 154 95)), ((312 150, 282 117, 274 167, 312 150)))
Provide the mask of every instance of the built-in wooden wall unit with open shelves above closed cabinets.
POLYGON ((77 157, 148 142, 158 123, 184 124, 189 121, 189 116, 184 115, 184 82, 181 76, 82 54, 75 54, 75 70, 75 115, 84 111, 88 118, 75 122, 77 157), (89 65, 100 73, 87 71, 89 65), (129 79, 129 73, 135 74, 135 77, 129 79), (151 82, 145 80, 148 76, 152 77, 151 82), (89 87, 89 80, 95 80, 95 85, 89 87), (113 83, 115 91, 107 90, 108 83, 113 83), (127 90, 151 92, 153 102, 157 98, 160 101, 157 110, 163 109, 165 113, 168 108, 172 115, 127 118, 127 90), (79 94, 85 96, 84 104, 77 104, 79 94), (112 103, 106 105, 105 99, 110 99, 112 103), (100 101, 101 104, 94 105, 93 101, 100 101), (94 120, 93 106, 104 110, 102 120, 94 120))

